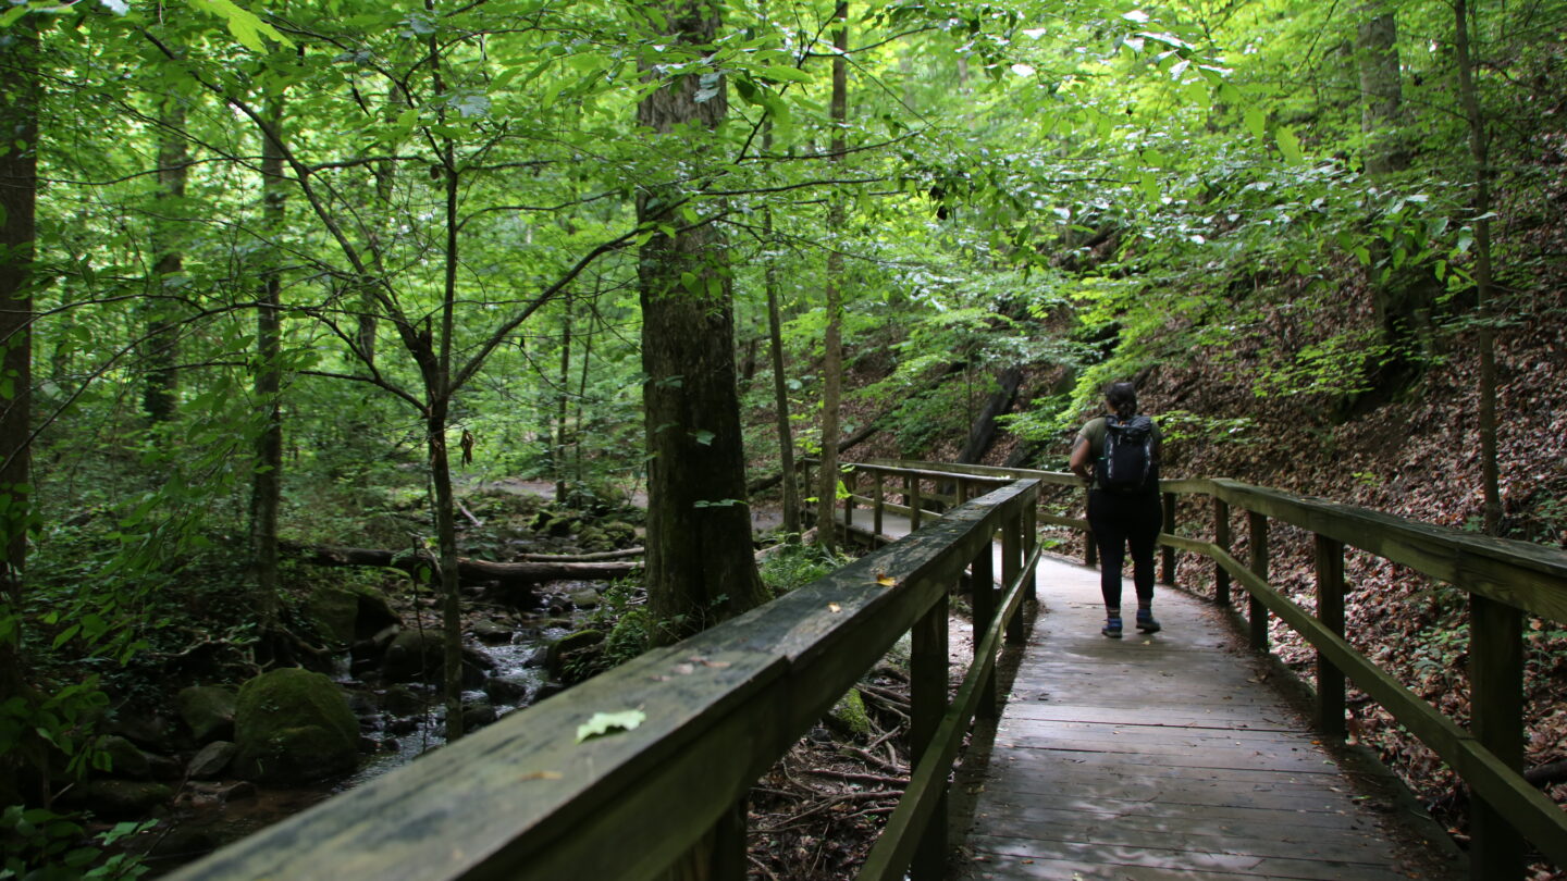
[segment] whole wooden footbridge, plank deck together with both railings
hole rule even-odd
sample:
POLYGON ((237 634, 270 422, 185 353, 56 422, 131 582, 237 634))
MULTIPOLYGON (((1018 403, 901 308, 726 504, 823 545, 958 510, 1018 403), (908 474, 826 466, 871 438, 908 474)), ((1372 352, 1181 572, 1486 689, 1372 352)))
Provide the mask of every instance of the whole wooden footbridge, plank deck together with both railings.
POLYGON ((1080 497, 1073 477, 862 464, 849 480, 849 531, 885 536, 906 520, 912 535, 176 878, 743 878, 751 785, 910 632, 915 768, 859 878, 948 875, 948 779, 976 718, 995 721, 995 749, 973 857, 953 875, 1409 876, 1412 864, 1374 832, 1313 743, 1343 737, 1346 677, 1468 784, 1473 878, 1522 878, 1525 842, 1567 867, 1567 814, 1520 773, 1522 619, 1567 621, 1567 553, 1233 481, 1166 481, 1164 578, 1177 552, 1208 557, 1222 605, 1164 591, 1167 632, 1113 644, 1097 635, 1091 569, 1051 564, 1036 591, 1039 527, 1086 530, 1064 511, 1080 497), (1199 499, 1211 520, 1177 520, 1199 499), (1232 509, 1249 530, 1244 564, 1229 552, 1232 509), (1315 613, 1268 583, 1269 522, 1315 535, 1315 613), (1470 729, 1346 641, 1346 546, 1470 594, 1470 729), (950 698, 948 597, 964 577, 975 588, 975 652, 950 698), (1250 682, 1254 662, 1218 651, 1236 585, 1249 597, 1254 649, 1266 651, 1269 616, 1316 649, 1315 732, 1250 682), (1020 610, 1036 594, 1030 640, 1020 610), (995 687, 1003 643, 1028 643, 1004 707, 995 687), (595 713, 632 709, 646 713, 635 731, 578 743, 595 713))

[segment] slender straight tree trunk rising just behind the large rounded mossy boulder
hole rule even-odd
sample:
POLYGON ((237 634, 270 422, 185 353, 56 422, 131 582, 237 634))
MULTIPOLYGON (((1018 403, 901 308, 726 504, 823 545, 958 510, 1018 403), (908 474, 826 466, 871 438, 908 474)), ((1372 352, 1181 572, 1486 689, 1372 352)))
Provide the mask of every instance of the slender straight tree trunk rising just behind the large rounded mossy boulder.
POLYGON ((255 400, 262 431, 255 439, 255 477, 251 483, 251 566, 262 633, 277 627, 277 509, 282 505, 282 243, 287 223, 284 198, 282 97, 268 111, 262 132, 262 227, 268 235, 255 310, 255 400))

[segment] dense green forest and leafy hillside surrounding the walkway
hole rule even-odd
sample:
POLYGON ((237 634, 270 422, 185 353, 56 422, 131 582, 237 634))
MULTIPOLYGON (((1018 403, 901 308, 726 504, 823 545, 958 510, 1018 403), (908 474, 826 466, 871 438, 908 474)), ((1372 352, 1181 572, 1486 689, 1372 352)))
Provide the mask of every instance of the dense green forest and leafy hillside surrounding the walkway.
MULTIPOLYGON (((799 505, 794 456, 1062 469, 1113 379, 1166 477, 1567 544, 1564 28, 1556 0, 13 0, 16 865, 135 873, 66 798, 105 735, 329 665, 323 591, 447 633, 461 735, 459 560, 646 544, 610 663, 777 589, 752 514, 799 505), (393 569, 317 566, 343 547, 393 569)), ((1352 641, 1464 721, 1462 594, 1349 578, 1352 641)), ((1567 759, 1564 627, 1526 624, 1529 767, 1567 759)))

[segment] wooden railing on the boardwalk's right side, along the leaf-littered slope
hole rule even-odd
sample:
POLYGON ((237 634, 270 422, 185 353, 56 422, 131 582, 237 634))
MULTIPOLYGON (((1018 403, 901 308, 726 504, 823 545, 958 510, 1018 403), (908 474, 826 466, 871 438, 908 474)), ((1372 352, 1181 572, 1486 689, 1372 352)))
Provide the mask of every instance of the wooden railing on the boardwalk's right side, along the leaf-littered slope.
MULTIPOLYGON (((885 462, 879 462, 885 464, 885 462)), ((1062 472, 907 462, 918 470, 961 469, 967 475, 1039 480, 1080 486, 1062 472)), ((1523 878, 1526 839, 1559 868, 1567 868, 1567 812, 1522 774, 1523 768, 1523 616, 1567 621, 1567 552, 1537 544, 1487 538, 1435 527, 1365 508, 1304 499, 1232 480, 1166 480, 1161 580, 1175 583, 1175 553, 1200 553, 1216 563, 1214 599, 1229 605, 1232 583, 1247 593, 1247 630, 1268 651, 1269 615, 1277 616, 1316 649, 1316 724, 1330 737, 1344 735, 1344 680, 1381 704, 1457 773, 1473 793, 1470 865, 1476 879, 1523 878), (1211 524, 1182 536, 1182 499, 1205 497, 1211 524), (1232 513, 1246 513, 1249 560, 1230 555, 1232 513), (1315 615, 1268 583, 1269 522, 1313 535, 1316 567, 1315 615), (1355 547, 1464 589, 1470 597, 1470 727, 1464 729, 1399 683, 1344 640, 1344 549, 1355 547)), ((1040 522, 1086 530, 1072 517, 1040 516, 1040 522)), ((1089 541, 1092 546, 1092 541, 1089 541)))

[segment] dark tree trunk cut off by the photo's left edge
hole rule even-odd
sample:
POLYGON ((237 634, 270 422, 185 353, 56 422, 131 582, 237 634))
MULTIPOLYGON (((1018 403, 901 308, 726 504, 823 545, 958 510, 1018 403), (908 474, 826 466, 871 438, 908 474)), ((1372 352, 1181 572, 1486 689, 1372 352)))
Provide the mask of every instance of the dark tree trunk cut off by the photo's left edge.
MULTIPOLYGON (((38 34, 24 16, 0 39, 0 704, 28 693, 22 574, 31 519, 33 259, 38 202, 38 34)), ((0 801, 20 801, 19 754, 0 756, 0 801)))

